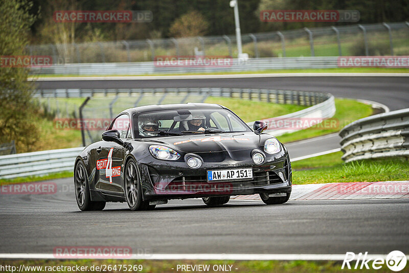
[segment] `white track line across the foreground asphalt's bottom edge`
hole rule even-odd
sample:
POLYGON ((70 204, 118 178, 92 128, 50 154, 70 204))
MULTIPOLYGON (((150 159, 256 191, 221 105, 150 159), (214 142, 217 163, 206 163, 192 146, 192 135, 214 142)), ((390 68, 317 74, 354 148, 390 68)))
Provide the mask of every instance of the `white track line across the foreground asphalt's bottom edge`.
MULTIPOLYGON (((370 254, 368 259, 383 258, 387 255, 370 254)), ((409 255, 406 255, 409 259, 409 255)), ((343 261, 345 254, 132 254, 126 258, 93 258, 85 257, 81 259, 119 259, 119 260, 304 260, 304 261, 343 261)), ((35 253, 2 253, 0 259, 57 259, 57 260, 77 260, 77 258, 55 258, 53 254, 35 253)), ((79 259, 79 258, 78 258, 79 259)))

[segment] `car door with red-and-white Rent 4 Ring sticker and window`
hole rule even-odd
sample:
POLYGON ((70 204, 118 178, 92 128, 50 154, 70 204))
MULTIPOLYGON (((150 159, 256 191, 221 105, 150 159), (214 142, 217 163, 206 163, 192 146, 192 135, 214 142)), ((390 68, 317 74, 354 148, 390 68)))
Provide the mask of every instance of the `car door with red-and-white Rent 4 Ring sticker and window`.
MULTIPOLYGON (((130 135, 129 125, 129 116, 125 113, 118 116, 108 129, 118 130, 121 140, 126 141, 130 135)), ((122 194, 125 148, 116 142, 102 140, 98 152, 96 167, 99 182, 96 187, 107 194, 122 194)))

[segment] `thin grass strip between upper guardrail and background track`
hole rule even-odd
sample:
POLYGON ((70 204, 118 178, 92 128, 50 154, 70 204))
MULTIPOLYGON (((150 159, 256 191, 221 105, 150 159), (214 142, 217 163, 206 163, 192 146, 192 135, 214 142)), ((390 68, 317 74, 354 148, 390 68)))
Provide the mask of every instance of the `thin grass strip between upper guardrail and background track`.
POLYGON ((240 71, 240 72, 203 72, 203 73, 179 73, 179 74, 134 74, 134 75, 32 75, 34 78, 44 77, 124 77, 124 76, 183 76, 183 75, 232 75, 232 74, 265 74, 265 73, 409 73, 409 69, 404 68, 384 68, 384 67, 351 67, 333 69, 283 69, 283 70, 261 70, 261 71, 240 71))

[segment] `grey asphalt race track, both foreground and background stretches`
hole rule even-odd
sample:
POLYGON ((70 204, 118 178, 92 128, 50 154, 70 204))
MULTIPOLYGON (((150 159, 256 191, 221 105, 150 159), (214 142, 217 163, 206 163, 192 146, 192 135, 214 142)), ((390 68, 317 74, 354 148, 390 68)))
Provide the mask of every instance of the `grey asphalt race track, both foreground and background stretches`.
MULTIPOLYGON (((329 92, 409 107, 408 77, 279 77, 201 80, 39 81, 39 88, 253 87, 329 92)), ((288 144, 292 158, 339 148, 337 135, 288 144)), ((409 200, 289 201, 267 206, 231 200, 172 200, 154 211, 108 203, 80 212, 72 178, 57 193, 0 194, 0 253, 52 253, 56 246, 130 246, 134 253, 387 254, 409 253, 409 200)))

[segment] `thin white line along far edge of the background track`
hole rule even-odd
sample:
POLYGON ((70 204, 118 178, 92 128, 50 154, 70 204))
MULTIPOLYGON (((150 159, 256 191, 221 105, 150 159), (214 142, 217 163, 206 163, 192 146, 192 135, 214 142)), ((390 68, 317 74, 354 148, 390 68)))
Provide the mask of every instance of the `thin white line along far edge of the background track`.
POLYGON ((222 75, 167 75, 167 76, 82 76, 82 77, 30 77, 29 81, 89 81, 89 80, 184 80, 229 78, 279 77, 409 77, 409 73, 259 73, 222 75))

